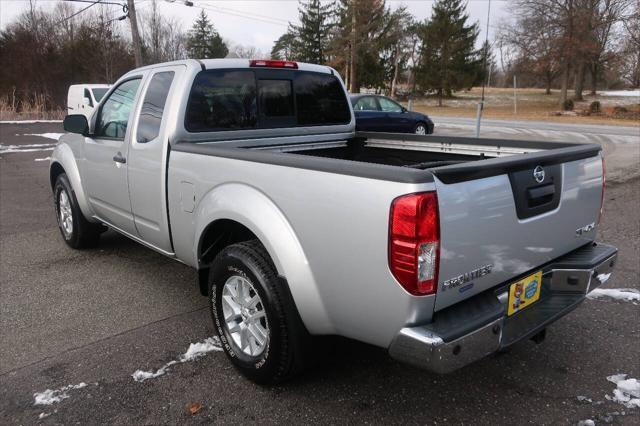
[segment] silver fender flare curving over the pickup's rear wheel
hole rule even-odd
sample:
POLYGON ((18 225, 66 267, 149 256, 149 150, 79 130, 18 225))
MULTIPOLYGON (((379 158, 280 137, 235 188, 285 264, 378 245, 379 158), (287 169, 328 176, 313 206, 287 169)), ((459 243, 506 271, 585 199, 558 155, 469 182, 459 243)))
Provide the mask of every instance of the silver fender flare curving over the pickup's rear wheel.
POLYGON ((194 264, 199 265, 200 240, 207 227, 220 219, 247 227, 264 245, 285 278, 300 317, 312 334, 331 334, 324 303, 309 262, 289 221, 264 193, 242 183, 227 183, 204 194, 193 212, 195 223, 194 264))

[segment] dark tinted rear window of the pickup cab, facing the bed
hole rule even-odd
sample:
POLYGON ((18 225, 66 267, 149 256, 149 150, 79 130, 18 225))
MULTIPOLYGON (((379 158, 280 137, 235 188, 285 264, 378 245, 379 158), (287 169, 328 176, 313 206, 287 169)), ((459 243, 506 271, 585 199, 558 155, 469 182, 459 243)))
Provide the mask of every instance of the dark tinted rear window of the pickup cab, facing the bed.
POLYGON ((210 132, 348 124, 349 104, 334 75, 208 70, 193 83, 185 128, 210 132), (277 78, 271 78, 276 77, 277 78), (284 76, 284 77, 283 77, 284 76))

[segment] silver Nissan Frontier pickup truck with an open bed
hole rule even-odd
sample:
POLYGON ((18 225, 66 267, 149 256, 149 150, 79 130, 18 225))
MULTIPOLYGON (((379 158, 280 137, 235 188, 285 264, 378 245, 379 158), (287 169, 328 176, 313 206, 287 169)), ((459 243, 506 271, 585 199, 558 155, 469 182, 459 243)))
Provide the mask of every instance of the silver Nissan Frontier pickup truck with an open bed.
POLYGON ((449 372, 577 307, 611 275, 597 145, 354 132, 335 70, 185 60, 133 70, 51 157, 62 237, 111 228, 198 271, 258 383, 340 335, 449 372))

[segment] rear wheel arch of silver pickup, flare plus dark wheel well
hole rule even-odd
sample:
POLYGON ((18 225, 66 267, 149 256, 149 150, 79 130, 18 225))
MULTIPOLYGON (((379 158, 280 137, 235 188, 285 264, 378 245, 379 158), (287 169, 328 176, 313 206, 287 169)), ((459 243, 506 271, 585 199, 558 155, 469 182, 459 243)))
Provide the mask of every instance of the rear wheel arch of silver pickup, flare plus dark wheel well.
POLYGON ((205 194, 194 211, 194 253, 201 291, 210 262, 228 244, 257 239, 287 283, 300 317, 313 334, 333 328, 309 261, 286 216, 264 193, 242 183, 228 183, 205 194), (222 232, 222 234, 218 234, 222 232), (241 239, 244 238, 244 239, 241 239))

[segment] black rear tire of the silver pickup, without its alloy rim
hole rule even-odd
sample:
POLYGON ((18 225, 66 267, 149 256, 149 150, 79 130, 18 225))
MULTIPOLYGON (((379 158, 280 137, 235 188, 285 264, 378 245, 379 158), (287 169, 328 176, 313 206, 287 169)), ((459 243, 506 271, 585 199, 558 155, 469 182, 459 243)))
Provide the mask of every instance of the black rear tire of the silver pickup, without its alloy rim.
POLYGON ((276 384, 305 367, 304 345, 310 336, 286 283, 278 277, 269 254, 259 241, 233 244, 216 256, 209 273, 209 307, 225 353, 234 366, 253 382, 276 384), (262 352, 256 356, 245 353, 237 344, 223 314, 223 288, 227 280, 237 277, 248 281, 260 297, 261 309, 266 313, 268 337, 262 352))

